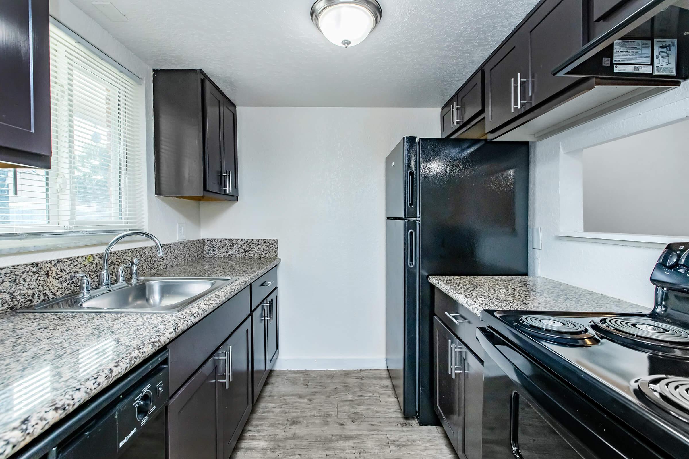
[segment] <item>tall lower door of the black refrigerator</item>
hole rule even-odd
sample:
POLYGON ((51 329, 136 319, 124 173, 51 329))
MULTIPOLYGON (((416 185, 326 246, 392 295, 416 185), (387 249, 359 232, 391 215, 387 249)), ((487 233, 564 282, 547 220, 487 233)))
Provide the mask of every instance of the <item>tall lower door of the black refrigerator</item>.
POLYGON ((418 223, 385 220, 385 353, 404 416, 416 416, 418 223))

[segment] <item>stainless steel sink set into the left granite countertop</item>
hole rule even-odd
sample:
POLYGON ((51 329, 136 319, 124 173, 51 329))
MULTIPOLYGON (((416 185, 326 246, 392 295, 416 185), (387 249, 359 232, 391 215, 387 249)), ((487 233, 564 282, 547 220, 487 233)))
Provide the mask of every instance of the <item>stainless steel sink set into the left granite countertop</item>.
POLYGON ((139 277, 134 284, 74 293, 17 312, 163 312, 192 306, 236 277, 139 277))

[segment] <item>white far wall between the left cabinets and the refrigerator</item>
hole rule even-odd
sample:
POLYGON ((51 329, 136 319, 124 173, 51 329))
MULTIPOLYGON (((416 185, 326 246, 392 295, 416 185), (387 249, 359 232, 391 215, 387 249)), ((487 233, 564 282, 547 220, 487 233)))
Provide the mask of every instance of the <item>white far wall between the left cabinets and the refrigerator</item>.
POLYGON ((384 159, 438 109, 239 107, 240 200, 201 237, 276 237, 280 368, 384 368, 384 159))

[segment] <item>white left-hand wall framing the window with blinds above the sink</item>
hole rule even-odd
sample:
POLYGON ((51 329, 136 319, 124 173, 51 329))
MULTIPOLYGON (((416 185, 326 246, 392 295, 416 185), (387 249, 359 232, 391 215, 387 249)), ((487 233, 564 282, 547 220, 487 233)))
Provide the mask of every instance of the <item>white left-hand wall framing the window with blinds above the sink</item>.
MULTIPOLYGON (((176 198, 158 198, 155 196, 153 175, 153 75, 151 67, 127 50, 119 41, 116 41, 116 39, 108 34, 101 25, 88 17, 88 15, 79 10, 79 8, 76 8, 69 0, 50 0, 50 15, 144 80, 146 113, 145 126, 142 127, 142 129, 145 129, 146 138, 147 194, 145 200, 141 200, 141 205, 145 206, 147 209, 147 230, 158 236, 162 242, 172 242, 177 240, 177 222, 185 223, 187 239, 198 239, 200 234, 200 206, 198 202, 176 198)), ((121 242, 121 244, 122 248, 127 246, 135 247, 150 244, 150 241, 121 242)), ((0 255, 0 266, 70 257, 73 255, 84 255, 98 252, 104 247, 105 244, 100 244, 99 246, 43 250, 40 252, 28 252, 15 255, 0 255)))

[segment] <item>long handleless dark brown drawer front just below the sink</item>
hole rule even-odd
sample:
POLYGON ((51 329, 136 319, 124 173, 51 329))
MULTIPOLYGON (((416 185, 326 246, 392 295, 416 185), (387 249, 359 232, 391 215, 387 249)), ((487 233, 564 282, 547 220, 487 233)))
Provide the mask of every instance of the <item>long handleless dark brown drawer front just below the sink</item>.
POLYGON ((245 288, 167 345, 170 394, 192 376, 249 314, 249 288, 245 288))

